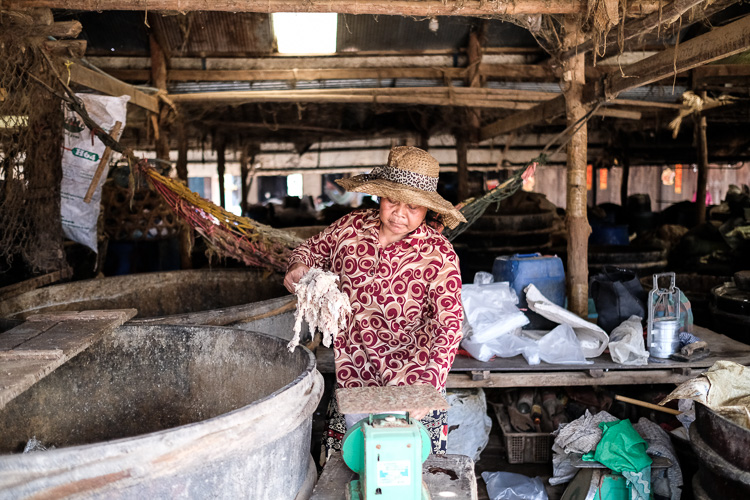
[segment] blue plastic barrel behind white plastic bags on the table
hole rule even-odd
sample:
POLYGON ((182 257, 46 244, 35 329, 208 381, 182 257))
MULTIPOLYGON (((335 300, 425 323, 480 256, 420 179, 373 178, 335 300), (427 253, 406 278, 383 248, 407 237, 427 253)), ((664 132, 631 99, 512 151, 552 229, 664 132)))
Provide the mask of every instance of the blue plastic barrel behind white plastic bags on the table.
POLYGON ((502 255, 492 265, 495 281, 507 281, 518 294, 518 307, 528 307, 523 289, 530 283, 551 302, 565 305, 565 270, 562 260, 540 253, 502 255))

